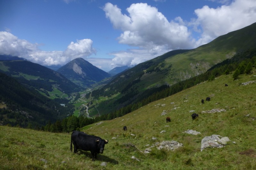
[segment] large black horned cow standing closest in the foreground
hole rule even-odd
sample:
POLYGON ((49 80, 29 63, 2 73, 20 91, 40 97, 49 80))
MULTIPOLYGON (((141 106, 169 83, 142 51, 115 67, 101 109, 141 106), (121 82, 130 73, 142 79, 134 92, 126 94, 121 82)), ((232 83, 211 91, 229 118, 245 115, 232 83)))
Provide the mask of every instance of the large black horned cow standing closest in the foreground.
POLYGON ((97 136, 87 135, 84 132, 73 131, 71 134, 70 151, 72 152, 72 143, 74 144, 74 153, 78 149, 83 151, 91 151, 92 161, 97 159, 97 153, 103 153, 105 144, 108 140, 101 139, 97 136))

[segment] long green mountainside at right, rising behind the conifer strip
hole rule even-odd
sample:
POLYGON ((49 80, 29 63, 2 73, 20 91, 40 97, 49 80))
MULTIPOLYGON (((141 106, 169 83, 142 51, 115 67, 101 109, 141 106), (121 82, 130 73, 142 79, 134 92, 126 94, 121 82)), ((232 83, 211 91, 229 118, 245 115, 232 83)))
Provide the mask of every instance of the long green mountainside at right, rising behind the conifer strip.
MULTIPOLYGON (((94 113, 106 114, 107 108, 115 110, 141 100, 149 90, 163 85, 174 85, 182 80, 198 76, 214 65, 234 55, 256 48, 256 23, 222 35, 208 44, 191 50, 173 50, 154 59, 140 63, 113 78, 104 87, 92 92, 92 96, 108 97, 94 109, 94 113)), ((113 111, 112 110, 112 111, 113 111)))

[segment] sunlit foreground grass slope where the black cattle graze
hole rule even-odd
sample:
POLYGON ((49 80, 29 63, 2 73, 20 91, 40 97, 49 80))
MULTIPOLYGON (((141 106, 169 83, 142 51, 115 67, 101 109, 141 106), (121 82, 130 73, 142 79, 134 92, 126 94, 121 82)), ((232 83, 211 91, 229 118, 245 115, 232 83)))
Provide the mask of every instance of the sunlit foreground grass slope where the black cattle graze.
POLYGON ((104 154, 94 162, 90 152, 80 152, 78 155, 70 152, 70 133, 54 134, 0 126, 0 168, 255 169, 256 83, 241 84, 255 81, 254 75, 255 70, 252 75, 241 75, 235 81, 232 75, 220 76, 211 82, 152 102, 123 117, 84 127, 81 131, 109 140, 104 154), (225 83, 228 87, 224 86, 225 83), (211 101, 201 104, 201 99, 208 96, 211 101), (201 113, 212 109, 226 111, 201 113), (161 116, 164 110, 167 115, 161 116), (199 114, 194 121, 190 110, 199 114), (167 116, 171 117, 169 123, 165 121, 167 116), (125 132, 124 125, 128 129, 125 132), (194 136, 183 133, 188 129, 202 134, 194 136), (162 130, 166 130, 166 133, 160 134, 162 130), (236 144, 219 149, 207 148, 200 152, 202 138, 212 134, 229 137, 236 144), (157 140, 152 140, 152 137, 157 140), (184 146, 174 152, 155 148, 148 154, 140 152, 146 149, 146 144, 163 140, 175 140, 184 146), (244 151, 250 151, 250 154, 241 154, 244 151), (132 156, 140 161, 131 159, 132 156), (102 162, 106 162, 107 166, 100 166, 102 162))

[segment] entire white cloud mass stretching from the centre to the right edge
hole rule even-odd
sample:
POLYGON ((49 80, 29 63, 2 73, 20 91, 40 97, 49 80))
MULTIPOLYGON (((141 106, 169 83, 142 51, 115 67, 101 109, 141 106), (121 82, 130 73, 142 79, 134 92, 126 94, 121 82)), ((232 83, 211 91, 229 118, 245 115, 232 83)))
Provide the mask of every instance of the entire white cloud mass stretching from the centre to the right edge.
POLYGON ((219 0, 218 8, 204 6, 195 10, 196 18, 184 21, 180 16, 166 18, 156 7, 132 4, 122 13, 117 5, 106 3, 106 18, 122 33, 118 42, 134 49, 114 52, 112 66, 136 65, 174 49, 191 49, 220 35, 256 22, 255 0, 219 0), (192 38, 197 33, 197 39, 192 38))

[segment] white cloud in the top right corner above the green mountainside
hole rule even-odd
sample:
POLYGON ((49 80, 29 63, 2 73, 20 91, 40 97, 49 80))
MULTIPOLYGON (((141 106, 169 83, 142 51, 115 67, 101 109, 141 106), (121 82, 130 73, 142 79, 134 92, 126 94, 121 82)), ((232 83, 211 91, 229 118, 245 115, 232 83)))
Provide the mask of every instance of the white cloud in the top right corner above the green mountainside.
POLYGON ((255 0, 236 0, 230 5, 222 5, 216 9, 204 6, 196 9, 196 20, 191 25, 201 31, 197 46, 208 43, 226 33, 241 29, 256 22, 255 0), (200 27, 200 28, 198 28, 200 27))

